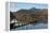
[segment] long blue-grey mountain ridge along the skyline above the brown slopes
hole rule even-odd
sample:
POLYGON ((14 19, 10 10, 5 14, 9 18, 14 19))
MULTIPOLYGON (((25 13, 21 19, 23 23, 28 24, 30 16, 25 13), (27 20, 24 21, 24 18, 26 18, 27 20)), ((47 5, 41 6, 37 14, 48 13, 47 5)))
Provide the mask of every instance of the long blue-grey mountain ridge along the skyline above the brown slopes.
MULTIPOLYGON (((21 9, 21 10, 18 10, 16 13, 34 14, 34 13, 42 12, 42 11, 46 11, 46 10, 47 10, 47 9, 41 10, 41 9, 35 9, 35 7, 32 7, 32 9, 29 9, 29 10, 23 10, 23 9, 21 9)), ((47 11, 48 11, 48 10, 47 10, 47 11)))

